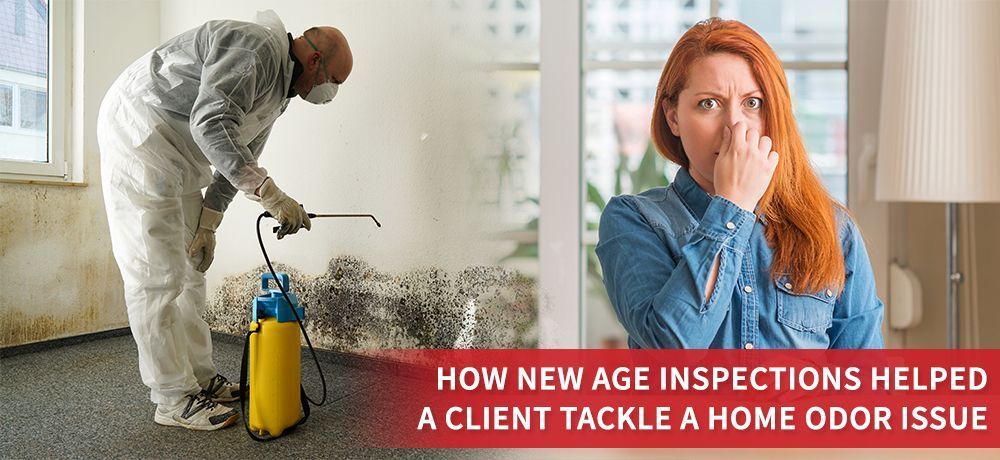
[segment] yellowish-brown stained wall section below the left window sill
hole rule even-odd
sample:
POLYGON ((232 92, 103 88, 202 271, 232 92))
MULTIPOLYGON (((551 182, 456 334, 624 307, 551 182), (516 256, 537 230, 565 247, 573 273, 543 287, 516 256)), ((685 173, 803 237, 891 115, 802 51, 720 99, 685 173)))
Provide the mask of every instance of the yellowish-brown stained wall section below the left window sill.
POLYGON ((0 347, 128 326, 100 187, 2 183, 0 197, 9 288, 0 296, 0 347))

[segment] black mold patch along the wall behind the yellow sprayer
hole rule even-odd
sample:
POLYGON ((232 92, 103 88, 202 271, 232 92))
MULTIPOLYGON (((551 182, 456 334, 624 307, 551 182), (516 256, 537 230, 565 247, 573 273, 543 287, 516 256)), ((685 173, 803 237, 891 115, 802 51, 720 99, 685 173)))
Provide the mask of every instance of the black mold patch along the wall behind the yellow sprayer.
MULTIPOLYGON (((376 270, 353 256, 337 257, 320 276, 292 267, 291 290, 306 307, 306 331, 322 348, 357 352, 388 348, 535 348, 537 285, 505 267, 460 272, 422 268, 376 270)), ((209 302, 213 330, 242 335, 266 266, 226 277, 209 302)))

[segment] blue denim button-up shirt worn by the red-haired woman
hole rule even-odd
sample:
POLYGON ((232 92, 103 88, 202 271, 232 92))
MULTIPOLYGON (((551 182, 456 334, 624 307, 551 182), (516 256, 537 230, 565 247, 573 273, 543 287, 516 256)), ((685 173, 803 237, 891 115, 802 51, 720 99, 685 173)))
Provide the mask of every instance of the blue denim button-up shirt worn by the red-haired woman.
POLYGON ((631 348, 882 348, 882 301, 861 232, 838 208, 843 292, 770 274, 758 219, 681 169, 669 187, 611 199, 597 256, 631 348), (709 273, 720 255, 715 288, 709 273))

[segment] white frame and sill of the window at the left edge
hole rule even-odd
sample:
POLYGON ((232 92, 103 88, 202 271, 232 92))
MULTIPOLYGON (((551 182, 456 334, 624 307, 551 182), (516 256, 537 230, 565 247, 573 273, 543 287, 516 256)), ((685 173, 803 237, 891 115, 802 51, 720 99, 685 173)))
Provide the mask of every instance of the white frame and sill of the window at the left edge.
MULTIPOLYGON (((70 164, 72 123, 73 75, 73 12, 72 1, 49 2, 49 69, 47 72, 48 158, 46 163, 32 161, 0 160, 0 181, 71 183, 73 165, 70 164)), ((18 83, 15 83, 15 87, 18 83)), ((31 86, 31 85, 27 85, 31 86)), ((15 94, 13 99, 20 99, 15 94)), ((16 109, 15 109, 16 110, 16 109)), ((20 114, 15 111, 15 117, 20 114)), ((17 121, 16 123, 20 123, 17 121)))

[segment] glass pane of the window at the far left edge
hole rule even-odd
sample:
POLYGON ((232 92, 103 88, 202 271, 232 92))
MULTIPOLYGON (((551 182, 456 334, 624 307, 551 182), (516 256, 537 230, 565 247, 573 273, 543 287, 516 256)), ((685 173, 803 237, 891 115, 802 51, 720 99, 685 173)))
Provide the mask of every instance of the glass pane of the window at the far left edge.
POLYGON ((47 162, 48 2, 0 2, 0 160, 47 162))

